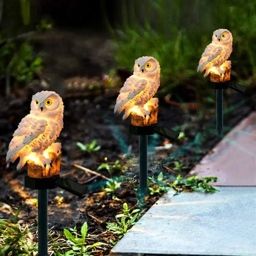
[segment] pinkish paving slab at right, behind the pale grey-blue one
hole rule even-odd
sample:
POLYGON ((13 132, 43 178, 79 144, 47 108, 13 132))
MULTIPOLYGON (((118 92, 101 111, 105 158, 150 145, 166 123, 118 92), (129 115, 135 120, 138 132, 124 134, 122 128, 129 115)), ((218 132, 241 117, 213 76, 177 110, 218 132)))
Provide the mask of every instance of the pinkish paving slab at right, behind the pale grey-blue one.
POLYGON ((229 132, 191 175, 218 177, 218 186, 256 186, 256 112, 229 132))

